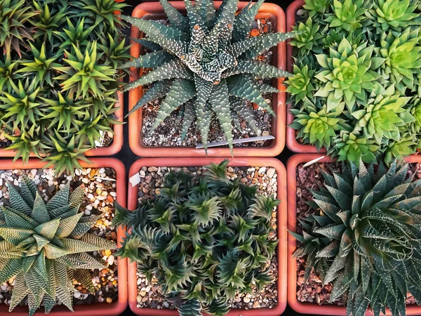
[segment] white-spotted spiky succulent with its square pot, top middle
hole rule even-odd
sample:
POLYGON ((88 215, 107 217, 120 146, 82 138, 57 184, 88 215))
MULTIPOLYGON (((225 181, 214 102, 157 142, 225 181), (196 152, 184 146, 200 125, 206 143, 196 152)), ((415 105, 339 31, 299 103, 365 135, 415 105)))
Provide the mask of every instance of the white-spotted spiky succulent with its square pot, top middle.
POLYGON ((193 6, 190 1, 161 0, 140 4, 132 17, 122 17, 133 25, 135 59, 126 64, 131 82, 125 90, 130 90, 129 142, 135 154, 276 156, 283 149, 283 41, 293 36, 283 34, 283 11, 262 1, 220 6, 220 1, 200 0, 193 6), (237 8, 243 10, 238 15, 237 8), (169 26, 159 23, 162 18, 169 26), (271 78, 278 78, 272 80, 274 86, 267 80, 271 78), (250 132, 241 136, 246 130, 250 132), (233 146, 233 138, 265 136, 269 131, 275 139, 268 145, 260 141, 253 147, 233 146), (211 140, 227 140, 229 148, 206 148, 211 140), (193 147, 196 143, 203 143, 205 150, 193 147))

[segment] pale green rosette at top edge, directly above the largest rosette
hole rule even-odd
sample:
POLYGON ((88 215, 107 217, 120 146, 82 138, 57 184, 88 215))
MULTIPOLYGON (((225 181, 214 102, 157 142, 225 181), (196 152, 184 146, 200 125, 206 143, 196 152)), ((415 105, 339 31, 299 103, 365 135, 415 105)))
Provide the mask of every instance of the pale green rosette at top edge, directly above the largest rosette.
POLYGON ((367 19, 365 12, 364 0, 333 0, 333 13, 328 13, 325 21, 338 31, 354 32, 367 19))

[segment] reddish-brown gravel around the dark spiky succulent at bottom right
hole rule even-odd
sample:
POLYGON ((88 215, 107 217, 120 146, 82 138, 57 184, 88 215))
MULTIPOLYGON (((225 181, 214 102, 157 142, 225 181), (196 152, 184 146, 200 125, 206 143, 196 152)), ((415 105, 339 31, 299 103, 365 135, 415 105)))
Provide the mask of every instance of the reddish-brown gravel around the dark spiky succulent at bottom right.
MULTIPOLYGON (((297 217, 306 218, 311 210, 306 204, 306 201, 310 201, 313 197, 309 189, 316 190, 318 185, 324 183, 322 171, 332 173, 333 171, 340 171, 340 163, 316 163, 307 168, 303 168, 303 164, 299 164, 297 167, 296 180, 297 180, 297 217)), ((416 173, 416 178, 421 178, 421 164, 410 164, 410 170, 408 174, 416 173)), ((302 232, 300 223, 297 223, 298 233, 302 232)), ((300 242, 297 242, 300 245, 300 242)), ((330 303, 330 292, 332 291, 332 284, 326 284, 322 286, 320 275, 318 272, 312 270, 309 280, 305 283, 305 260, 307 258, 297 259, 297 299, 300 302, 317 303, 319 305, 345 305, 344 301, 340 299, 330 303)), ((408 293, 406 300, 407 304, 415 304, 415 299, 411 294, 408 293)))

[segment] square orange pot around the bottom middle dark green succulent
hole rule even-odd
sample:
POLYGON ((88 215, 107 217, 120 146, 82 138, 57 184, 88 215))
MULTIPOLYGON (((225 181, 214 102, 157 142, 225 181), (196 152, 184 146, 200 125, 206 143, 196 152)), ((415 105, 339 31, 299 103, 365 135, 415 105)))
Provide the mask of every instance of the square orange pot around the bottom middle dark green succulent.
MULTIPOLYGON (((129 171, 129 177, 135 175, 142 169, 142 166, 206 166, 210 163, 222 162, 223 158, 146 158, 138 159, 129 171)), ((267 166, 276 169, 277 185, 278 185, 278 199, 281 203, 278 206, 278 239, 277 247, 278 258, 278 304, 274 308, 255 308, 252 310, 233 309, 227 315, 229 316, 278 316, 286 308, 286 256, 287 256, 287 242, 286 242, 286 169, 279 160, 274 158, 259 159, 259 158, 233 158, 229 162, 229 166, 267 166)), ((128 209, 136 209, 138 207, 138 192, 139 185, 128 185, 128 209)), ((136 263, 128 263, 128 305, 136 315, 147 316, 178 316, 177 310, 156 308, 138 308, 136 298, 138 296, 138 284, 136 277, 136 263)))

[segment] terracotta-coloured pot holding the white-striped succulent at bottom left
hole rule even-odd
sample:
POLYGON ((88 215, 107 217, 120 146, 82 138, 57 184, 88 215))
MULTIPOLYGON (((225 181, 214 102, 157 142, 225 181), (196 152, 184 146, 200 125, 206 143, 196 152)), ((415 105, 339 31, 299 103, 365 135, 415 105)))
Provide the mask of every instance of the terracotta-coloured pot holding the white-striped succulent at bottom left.
MULTIPOLYGON (((112 168, 116 171, 116 194, 117 201, 119 204, 126 206, 126 168, 124 164, 115 158, 93 158, 92 163, 87 164, 81 162, 83 168, 101 168, 107 167, 112 168)), ((29 159, 27 164, 22 164, 22 160, 19 159, 13 162, 12 159, 0 160, 0 170, 9 169, 42 169, 47 163, 42 162, 39 159, 29 159)), ((119 228, 117 230, 117 242, 121 246, 123 238, 123 230, 119 228)), ((126 258, 118 258, 117 269, 119 271, 119 301, 114 303, 94 303, 86 305, 74 305, 74 312, 71 312, 64 305, 57 305, 50 312, 51 316, 89 316, 98 314, 101 316, 114 316, 120 315, 127 307, 127 260, 126 258)), ((8 305, 0 305, 0 315, 15 315, 15 316, 27 316, 27 306, 16 306, 12 312, 8 312, 8 305)), ((35 313, 37 316, 45 315, 44 308, 41 308, 35 313)))

